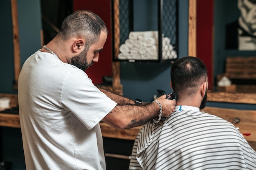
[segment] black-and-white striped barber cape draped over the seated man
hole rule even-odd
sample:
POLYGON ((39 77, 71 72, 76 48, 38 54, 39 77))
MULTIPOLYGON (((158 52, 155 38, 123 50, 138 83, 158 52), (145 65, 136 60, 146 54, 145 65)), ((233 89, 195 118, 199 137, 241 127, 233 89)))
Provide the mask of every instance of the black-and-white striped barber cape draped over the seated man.
POLYGON ((175 109, 163 124, 141 128, 130 170, 256 170, 256 152, 233 124, 197 107, 175 109))

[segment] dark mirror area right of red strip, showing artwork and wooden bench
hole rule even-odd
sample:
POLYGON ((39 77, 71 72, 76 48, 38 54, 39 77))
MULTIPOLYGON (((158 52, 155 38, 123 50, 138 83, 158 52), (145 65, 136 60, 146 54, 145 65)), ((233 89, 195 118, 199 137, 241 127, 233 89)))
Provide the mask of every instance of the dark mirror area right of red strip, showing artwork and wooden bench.
POLYGON ((226 76, 232 83, 229 87, 216 85, 215 90, 256 93, 256 41, 252 37, 256 3, 251 0, 213 2, 213 75, 215 82, 228 83, 222 81, 226 76))

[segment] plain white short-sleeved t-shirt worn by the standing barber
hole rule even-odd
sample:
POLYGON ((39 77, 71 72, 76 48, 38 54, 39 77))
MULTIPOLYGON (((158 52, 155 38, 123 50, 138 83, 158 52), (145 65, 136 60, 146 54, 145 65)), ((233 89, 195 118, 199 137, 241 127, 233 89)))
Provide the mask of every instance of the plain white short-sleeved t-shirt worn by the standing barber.
POLYGON ((27 170, 104 170, 99 122, 117 104, 87 74, 37 51, 18 80, 27 170))

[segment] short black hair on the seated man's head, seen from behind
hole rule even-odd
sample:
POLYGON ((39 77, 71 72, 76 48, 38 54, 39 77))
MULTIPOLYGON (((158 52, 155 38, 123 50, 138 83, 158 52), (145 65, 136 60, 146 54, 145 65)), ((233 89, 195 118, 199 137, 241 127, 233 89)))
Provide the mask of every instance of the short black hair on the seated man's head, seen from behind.
POLYGON ((207 68, 196 57, 182 57, 171 67, 173 91, 179 95, 194 95, 200 85, 206 81, 207 68))

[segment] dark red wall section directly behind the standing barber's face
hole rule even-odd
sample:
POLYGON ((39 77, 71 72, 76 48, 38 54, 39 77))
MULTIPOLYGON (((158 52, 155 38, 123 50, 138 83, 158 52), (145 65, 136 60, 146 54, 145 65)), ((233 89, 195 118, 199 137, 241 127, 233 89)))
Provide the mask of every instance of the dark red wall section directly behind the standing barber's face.
POLYGON ((108 38, 103 51, 99 53, 99 61, 85 70, 92 83, 101 84, 103 76, 112 76, 111 52, 111 12, 109 0, 73 0, 74 11, 80 9, 90 10, 99 15, 108 28, 108 38))

